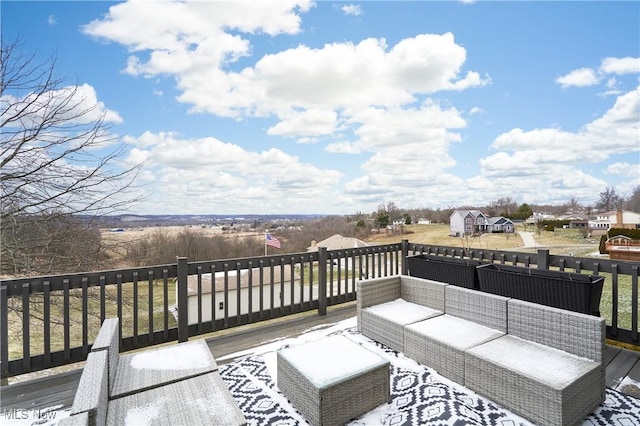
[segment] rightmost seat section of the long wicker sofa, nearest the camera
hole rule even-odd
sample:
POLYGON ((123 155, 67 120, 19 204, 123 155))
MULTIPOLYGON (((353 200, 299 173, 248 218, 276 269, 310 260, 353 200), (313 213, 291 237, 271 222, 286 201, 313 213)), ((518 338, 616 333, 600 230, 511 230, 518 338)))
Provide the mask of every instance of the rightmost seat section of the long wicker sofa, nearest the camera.
POLYGON ((568 354, 550 361, 558 352, 512 336, 493 340, 466 352, 465 386, 536 424, 580 424, 604 400, 603 367, 568 354), (530 347, 531 366, 509 362, 514 345, 530 347), (548 367, 536 367, 536 357, 549 360, 548 367))

